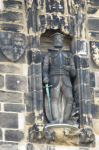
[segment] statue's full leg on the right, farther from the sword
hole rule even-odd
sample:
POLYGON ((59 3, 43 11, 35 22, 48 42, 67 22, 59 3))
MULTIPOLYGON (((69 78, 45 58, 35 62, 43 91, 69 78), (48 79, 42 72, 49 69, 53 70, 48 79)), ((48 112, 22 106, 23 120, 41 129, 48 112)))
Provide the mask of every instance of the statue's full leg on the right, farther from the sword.
POLYGON ((66 106, 64 110, 64 122, 69 119, 71 111, 72 111, 72 104, 73 104, 73 93, 71 87, 65 87, 63 90, 64 97, 66 99, 66 106))

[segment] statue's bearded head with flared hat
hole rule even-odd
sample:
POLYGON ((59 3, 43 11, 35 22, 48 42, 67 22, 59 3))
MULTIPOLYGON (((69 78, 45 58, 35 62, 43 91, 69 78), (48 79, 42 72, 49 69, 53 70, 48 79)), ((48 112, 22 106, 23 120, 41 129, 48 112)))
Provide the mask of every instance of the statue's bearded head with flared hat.
POLYGON ((53 37, 54 47, 62 48, 63 47, 63 39, 64 39, 65 35, 57 32, 51 36, 53 37))

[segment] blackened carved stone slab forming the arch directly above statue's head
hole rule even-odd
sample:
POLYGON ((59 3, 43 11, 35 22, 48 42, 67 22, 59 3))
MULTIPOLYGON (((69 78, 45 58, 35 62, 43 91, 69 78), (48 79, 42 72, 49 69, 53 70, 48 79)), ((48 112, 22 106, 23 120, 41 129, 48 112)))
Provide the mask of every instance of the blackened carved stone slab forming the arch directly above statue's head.
POLYGON ((72 38, 76 37, 76 20, 75 16, 43 14, 39 15, 40 35, 45 33, 47 29, 60 29, 63 34, 72 38))

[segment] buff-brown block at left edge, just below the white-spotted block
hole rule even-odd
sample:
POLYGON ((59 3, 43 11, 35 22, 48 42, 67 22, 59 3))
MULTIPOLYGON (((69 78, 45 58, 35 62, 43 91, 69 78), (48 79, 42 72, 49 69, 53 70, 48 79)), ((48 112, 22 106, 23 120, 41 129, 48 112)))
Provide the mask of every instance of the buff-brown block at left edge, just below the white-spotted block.
POLYGON ((18 92, 0 91, 0 102, 22 103, 22 94, 18 92))

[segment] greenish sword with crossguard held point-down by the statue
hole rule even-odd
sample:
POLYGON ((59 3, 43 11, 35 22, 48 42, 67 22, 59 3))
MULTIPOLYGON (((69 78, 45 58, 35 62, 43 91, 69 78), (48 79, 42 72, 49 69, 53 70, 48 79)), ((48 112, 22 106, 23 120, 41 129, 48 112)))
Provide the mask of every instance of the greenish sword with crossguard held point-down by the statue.
POLYGON ((51 111, 51 102, 50 102, 49 87, 52 87, 52 85, 48 86, 48 84, 45 84, 46 95, 47 95, 48 106, 49 106, 49 113, 50 113, 50 121, 52 121, 52 111, 51 111))

